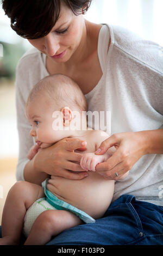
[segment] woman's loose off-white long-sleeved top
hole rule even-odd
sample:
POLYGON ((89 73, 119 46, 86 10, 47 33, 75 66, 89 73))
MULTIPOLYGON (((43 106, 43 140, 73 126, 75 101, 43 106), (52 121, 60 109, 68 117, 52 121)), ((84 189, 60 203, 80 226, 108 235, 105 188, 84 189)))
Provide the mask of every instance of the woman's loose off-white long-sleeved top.
MULTIPOLYGON (((112 135, 162 129, 161 47, 127 29, 104 25, 99 32, 98 56, 103 76, 85 97, 88 111, 105 111, 108 122, 104 130, 112 135)), ((17 65, 16 106, 20 139, 17 180, 24 180, 24 166, 29 161, 27 154, 34 144, 24 106, 34 84, 47 75, 45 56, 35 48, 24 54, 17 65)), ((95 128, 94 123, 92 127, 95 128)), ((139 200, 163 206, 162 185, 163 155, 145 155, 134 164, 126 179, 116 181, 113 200, 122 194, 133 194, 139 200)))

